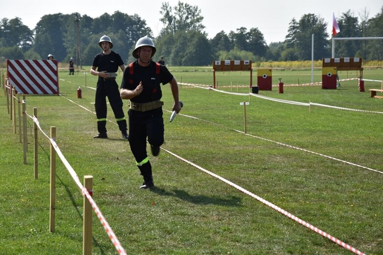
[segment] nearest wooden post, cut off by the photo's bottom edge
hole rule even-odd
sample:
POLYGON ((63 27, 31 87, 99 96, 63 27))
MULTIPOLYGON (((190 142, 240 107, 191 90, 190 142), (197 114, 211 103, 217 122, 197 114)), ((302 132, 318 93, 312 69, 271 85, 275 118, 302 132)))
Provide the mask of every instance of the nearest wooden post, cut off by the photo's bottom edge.
MULTIPOLYGON (((88 190, 89 194, 93 194, 93 176, 84 176, 84 187, 88 190)), ((92 205, 88 198, 84 196, 84 219, 82 227, 82 254, 92 255, 92 205)))

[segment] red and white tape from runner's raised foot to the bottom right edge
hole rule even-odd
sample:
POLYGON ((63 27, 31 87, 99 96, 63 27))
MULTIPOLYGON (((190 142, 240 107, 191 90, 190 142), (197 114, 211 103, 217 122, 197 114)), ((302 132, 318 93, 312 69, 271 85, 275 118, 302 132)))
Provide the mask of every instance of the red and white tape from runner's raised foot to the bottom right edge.
MULTIPOLYGON (((163 149, 163 148, 162 148, 162 149, 163 149)), ((167 153, 169 153, 169 154, 175 156, 176 158, 180 159, 181 161, 186 162, 186 163, 188 163, 188 164, 190 164, 190 165, 192 165, 192 166, 194 166, 194 167, 200 169, 201 171, 203 171, 203 172, 205 172, 205 173, 207 173, 207 174, 209 174, 209 175, 211 175, 211 176, 213 176, 213 177, 215 177, 215 178, 221 180, 222 182, 224 182, 224 183, 226 183, 226 184, 229 184, 230 186, 232 186, 232 187, 234 187, 234 188, 236 188, 236 189, 242 191, 243 193, 245 193, 245 194, 247 194, 247 195, 249 195, 249 196, 255 198, 255 199, 258 200, 259 202, 261 202, 261 203, 263 203, 263 204, 265 204, 265 205, 271 207, 272 209, 277 210, 278 212, 282 213, 283 215, 289 217, 290 219, 292 219, 292 220, 294 220, 294 221, 296 221, 296 222, 302 224, 302 225, 305 226, 306 228, 308 228, 308 229, 310 229, 310 230, 312 230, 312 231, 314 231, 314 232, 316 232, 316 233, 318 233, 318 234, 320 234, 320 235, 323 235, 324 237, 330 239, 332 242, 334 242, 334 243, 340 245, 341 247, 343 247, 343 248, 345 248, 345 249, 347 249, 347 250, 349 250, 349 251, 351 251, 351 252, 353 252, 353 253, 355 253, 355 254, 357 254, 357 255, 365 255, 364 253, 362 253, 362 252, 360 252, 359 250, 355 249, 355 248, 352 247, 351 245, 349 245, 349 244, 347 244, 347 243, 345 243, 345 242, 343 242, 343 241, 341 241, 341 240, 339 240, 339 239, 333 237, 332 235, 330 235, 330 234, 328 234, 328 233, 326 233, 326 232, 324 232, 324 231, 322 231, 322 230, 320 230, 320 229, 314 227, 313 225, 307 223, 306 221, 304 221, 304 220, 298 218, 297 216, 295 216, 295 215, 289 213, 288 211, 286 211, 286 210, 284 210, 284 209, 281 209, 280 207, 278 207, 278 206, 276 206, 276 205, 270 203, 269 201, 267 201, 267 200, 265 200, 265 199, 263 199, 263 198, 261 198, 261 197, 255 195, 254 193, 252 193, 252 192, 250 192, 250 191, 248 191, 248 190, 246 190, 246 189, 244 189, 244 188, 242 188, 241 186, 236 185, 236 184, 234 184, 234 183, 232 183, 232 182, 226 180, 225 178, 223 178, 223 177, 221 177, 221 176, 219 176, 219 175, 217 175, 217 174, 214 174, 214 173, 212 173, 212 172, 210 172, 210 171, 204 169, 203 167, 201 167, 201 166, 199 166, 199 165, 197 165, 197 164, 195 164, 195 163, 193 163, 193 162, 190 162, 190 161, 188 161, 188 160, 186 160, 186 159, 184 159, 184 158, 178 156, 177 154, 174 154, 174 153, 171 152, 171 151, 168 151, 168 150, 166 150, 166 149, 163 149, 163 150, 166 151, 167 153)))

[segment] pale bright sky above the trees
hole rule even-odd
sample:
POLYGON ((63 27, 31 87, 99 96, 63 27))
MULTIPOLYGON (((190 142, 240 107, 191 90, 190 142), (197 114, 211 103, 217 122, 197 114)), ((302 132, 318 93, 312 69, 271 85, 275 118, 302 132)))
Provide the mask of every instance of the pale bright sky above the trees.
MULTIPOLYGON (((33 29, 41 17, 47 14, 78 12, 97 18, 103 13, 113 14, 120 11, 128 15, 138 14, 157 36, 163 28, 159 21, 162 2, 176 6, 179 0, 0 0, 0 19, 19 17, 30 29, 33 29)), ((269 45, 272 42, 284 41, 289 23, 293 18, 297 21, 304 14, 313 13, 328 23, 328 33, 332 31, 332 13, 336 19, 342 13, 351 10, 354 16, 364 10, 369 18, 381 12, 382 0, 181 0, 192 6, 198 6, 202 23, 208 38, 213 38, 220 31, 229 34, 237 28, 258 28, 269 45)), ((107 31, 105 31, 107 34, 107 31)), ((339 34, 341 35, 341 34, 339 34)), ((383 36, 383 35, 381 35, 383 36)))

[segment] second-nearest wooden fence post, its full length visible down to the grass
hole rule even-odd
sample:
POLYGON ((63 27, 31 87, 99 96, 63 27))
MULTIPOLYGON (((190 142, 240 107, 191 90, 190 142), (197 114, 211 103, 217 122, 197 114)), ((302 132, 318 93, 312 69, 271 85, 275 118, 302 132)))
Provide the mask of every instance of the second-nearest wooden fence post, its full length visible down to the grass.
MULTIPOLYGON (((51 127, 51 139, 56 140, 56 127, 51 127)), ((54 232, 54 220, 56 210, 56 151, 51 143, 51 203, 50 203, 50 217, 49 217, 49 230, 54 232)))

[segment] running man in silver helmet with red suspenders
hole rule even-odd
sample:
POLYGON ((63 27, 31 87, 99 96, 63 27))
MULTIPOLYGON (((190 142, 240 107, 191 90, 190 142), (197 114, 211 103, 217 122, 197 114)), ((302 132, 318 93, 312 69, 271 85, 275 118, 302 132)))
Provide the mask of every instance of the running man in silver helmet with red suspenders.
POLYGON ((152 61, 156 49, 152 39, 140 38, 132 52, 137 60, 124 72, 121 84, 121 97, 129 99, 129 144, 136 165, 144 177, 140 188, 154 186, 152 165, 146 150, 146 139, 150 143, 153 156, 158 156, 164 142, 164 121, 162 118, 161 85, 170 83, 173 93, 173 110, 179 113, 178 84, 176 78, 165 66, 152 61))

